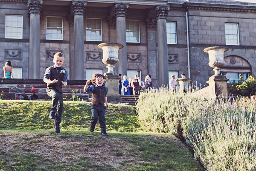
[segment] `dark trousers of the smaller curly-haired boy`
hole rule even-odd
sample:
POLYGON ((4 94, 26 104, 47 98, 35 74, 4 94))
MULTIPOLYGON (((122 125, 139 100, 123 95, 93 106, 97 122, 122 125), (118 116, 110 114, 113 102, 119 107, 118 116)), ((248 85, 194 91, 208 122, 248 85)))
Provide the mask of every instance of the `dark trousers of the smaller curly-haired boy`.
POLYGON ((92 127, 95 127, 97 120, 99 119, 99 125, 101 132, 106 133, 106 118, 105 118, 105 112, 106 112, 106 107, 105 106, 95 106, 91 105, 91 110, 92 110, 92 118, 91 118, 91 125, 92 127))

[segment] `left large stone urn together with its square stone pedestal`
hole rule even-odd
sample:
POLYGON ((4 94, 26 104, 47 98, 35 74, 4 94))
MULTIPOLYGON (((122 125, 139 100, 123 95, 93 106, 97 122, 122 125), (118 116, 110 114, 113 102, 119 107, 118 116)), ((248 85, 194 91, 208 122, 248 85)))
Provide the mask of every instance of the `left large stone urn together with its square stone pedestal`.
POLYGON ((118 59, 118 50, 123 48, 120 43, 100 43, 98 45, 100 49, 103 50, 102 62, 107 66, 108 72, 104 75, 108 76, 108 81, 106 82, 106 87, 108 87, 108 102, 111 103, 122 103, 121 97, 119 97, 119 76, 113 71, 114 64, 116 64, 118 59))

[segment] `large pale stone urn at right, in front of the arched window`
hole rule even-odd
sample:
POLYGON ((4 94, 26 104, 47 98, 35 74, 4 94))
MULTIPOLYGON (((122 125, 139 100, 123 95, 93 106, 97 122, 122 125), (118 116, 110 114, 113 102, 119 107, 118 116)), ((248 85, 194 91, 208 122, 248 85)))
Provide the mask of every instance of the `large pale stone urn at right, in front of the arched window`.
POLYGON ((224 52, 226 52, 228 48, 223 46, 212 46, 204 49, 204 52, 209 54, 209 66, 213 68, 214 75, 221 75, 220 67, 222 67, 224 62, 224 52))

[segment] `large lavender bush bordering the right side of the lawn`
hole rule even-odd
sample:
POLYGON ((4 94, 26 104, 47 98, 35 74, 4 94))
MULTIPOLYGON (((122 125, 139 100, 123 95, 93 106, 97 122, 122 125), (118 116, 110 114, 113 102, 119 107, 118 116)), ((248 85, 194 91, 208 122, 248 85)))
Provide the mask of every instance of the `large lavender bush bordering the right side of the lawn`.
POLYGON ((143 128, 186 139, 208 171, 256 170, 255 99, 224 102, 163 87, 141 93, 139 99, 143 128))

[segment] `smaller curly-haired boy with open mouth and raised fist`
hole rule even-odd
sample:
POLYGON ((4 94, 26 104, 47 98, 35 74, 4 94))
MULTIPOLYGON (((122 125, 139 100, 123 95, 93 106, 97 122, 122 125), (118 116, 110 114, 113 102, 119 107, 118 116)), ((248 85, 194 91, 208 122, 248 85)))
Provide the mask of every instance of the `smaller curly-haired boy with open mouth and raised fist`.
POLYGON ((105 83, 107 81, 107 76, 104 76, 103 74, 93 74, 92 83, 93 85, 88 86, 90 84, 90 80, 86 81, 86 84, 84 86, 84 92, 90 93, 92 92, 92 104, 91 104, 91 110, 92 110, 92 118, 90 123, 90 131, 93 132, 95 125, 99 119, 99 125, 101 128, 101 135, 102 136, 108 136, 107 130, 106 130, 106 118, 105 118, 105 112, 106 107, 108 108, 108 88, 105 87, 105 83), (106 103, 106 106, 104 106, 104 102, 106 103))

